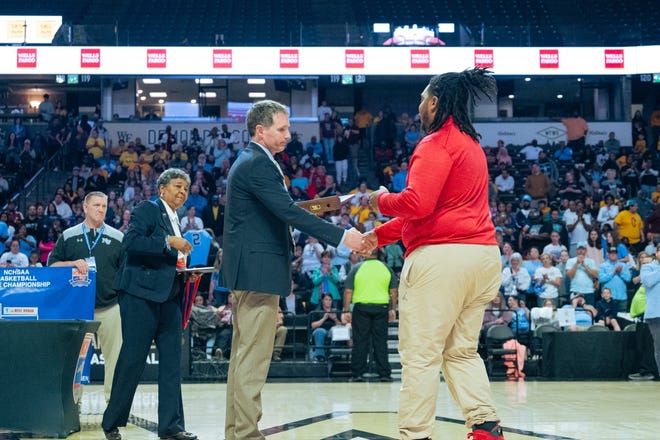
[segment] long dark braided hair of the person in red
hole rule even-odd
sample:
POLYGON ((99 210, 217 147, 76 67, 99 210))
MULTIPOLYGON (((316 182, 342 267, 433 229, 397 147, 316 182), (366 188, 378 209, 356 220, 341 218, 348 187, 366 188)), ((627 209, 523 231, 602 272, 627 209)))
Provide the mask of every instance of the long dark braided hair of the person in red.
POLYGON ((497 84, 490 72, 476 67, 443 73, 431 78, 428 88, 433 96, 438 97, 438 108, 427 128, 428 133, 439 130, 447 118, 453 116, 458 128, 478 142, 481 135, 472 125, 470 109, 477 97, 483 96, 493 102, 497 96, 497 84))

